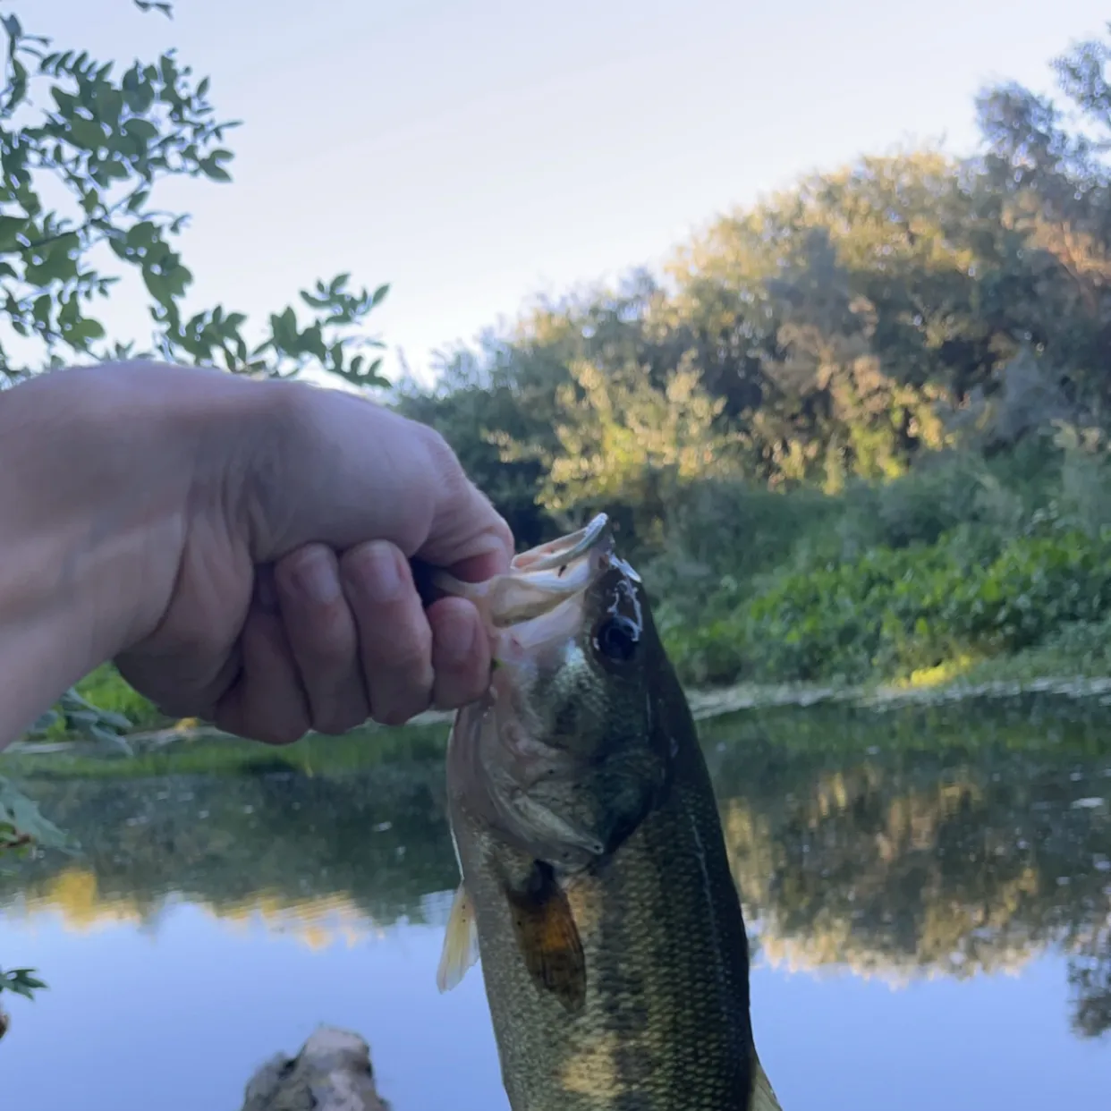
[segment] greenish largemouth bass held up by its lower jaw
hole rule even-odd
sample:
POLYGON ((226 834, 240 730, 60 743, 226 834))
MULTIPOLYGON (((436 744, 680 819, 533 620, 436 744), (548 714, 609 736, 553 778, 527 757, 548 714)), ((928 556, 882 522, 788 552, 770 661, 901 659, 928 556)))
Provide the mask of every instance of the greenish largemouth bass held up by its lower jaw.
POLYGON ((781 1111, 694 721, 609 518, 436 581, 493 650, 449 735, 437 982, 481 964, 512 1111, 781 1111))

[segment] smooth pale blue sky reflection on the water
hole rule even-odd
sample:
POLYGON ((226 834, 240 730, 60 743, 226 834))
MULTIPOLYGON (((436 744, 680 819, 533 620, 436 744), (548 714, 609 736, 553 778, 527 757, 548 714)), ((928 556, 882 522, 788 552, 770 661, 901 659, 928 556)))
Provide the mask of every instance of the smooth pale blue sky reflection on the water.
MULTIPOLYGON (((48 914, 0 925, 0 949, 51 981, 37 1003, 11 1008, 4 1094, 41 1111, 99 1107, 93 1094, 113 1111, 234 1111, 254 1067, 296 1050, 319 1020, 367 1038, 397 1111, 449 1100, 456 1111, 508 1109, 480 978, 441 997, 440 941, 432 927, 394 927, 313 951, 190 905, 172 909, 157 938, 130 924, 78 935, 48 914)), ((1083 1107, 1111 1084, 1109 1048, 1075 1039, 1063 1021, 1060 959, 1020 977, 898 990, 758 967, 752 991, 785 1109, 1083 1107)))

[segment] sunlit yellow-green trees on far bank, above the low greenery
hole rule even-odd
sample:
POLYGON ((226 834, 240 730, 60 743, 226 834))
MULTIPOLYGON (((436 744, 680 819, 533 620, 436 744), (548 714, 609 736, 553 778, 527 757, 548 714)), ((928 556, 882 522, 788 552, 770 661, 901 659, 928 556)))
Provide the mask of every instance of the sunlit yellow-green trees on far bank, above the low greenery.
POLYGON ((1054 419, 1102 427, 1109 50, 1054 63, 1060 102, 984 90, 974 157, 808 177, 722 216, 660 274, 538 304, 451 352, 399 404, 440 428, 522 543, 600 499, 649 541, 727 459, 752 486, 834 493, 954 447, 1008 451, 1054 419), (665 462, 683 436, 714 466, 665 462), (643 478, 669 470, 665 496, 643 478))

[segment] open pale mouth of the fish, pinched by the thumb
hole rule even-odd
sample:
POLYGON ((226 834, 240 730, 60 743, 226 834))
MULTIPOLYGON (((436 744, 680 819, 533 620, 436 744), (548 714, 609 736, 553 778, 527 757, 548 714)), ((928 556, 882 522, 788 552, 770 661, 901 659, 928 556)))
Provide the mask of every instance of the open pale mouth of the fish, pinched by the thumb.
POLYGON ((446 594, 472 601, 491 630, 503 630, 581 597, 614 561, 610 519, 599 513, 583 528, 514 556, 504 574, 462 582, 439 571, 433 582, 446 594))

